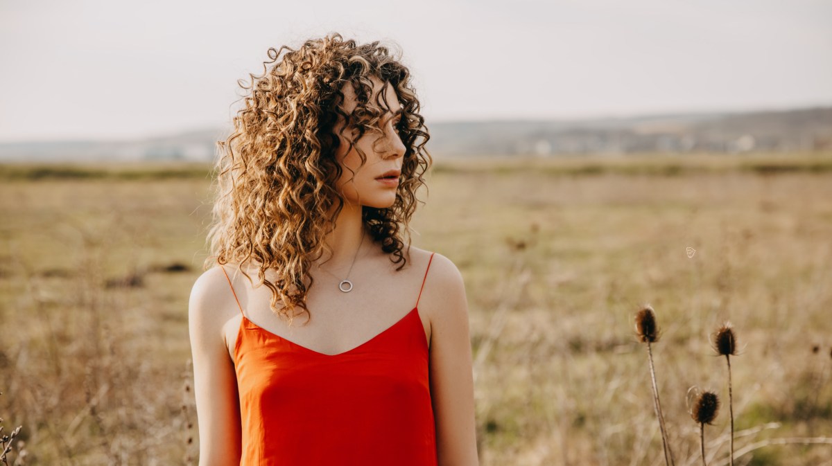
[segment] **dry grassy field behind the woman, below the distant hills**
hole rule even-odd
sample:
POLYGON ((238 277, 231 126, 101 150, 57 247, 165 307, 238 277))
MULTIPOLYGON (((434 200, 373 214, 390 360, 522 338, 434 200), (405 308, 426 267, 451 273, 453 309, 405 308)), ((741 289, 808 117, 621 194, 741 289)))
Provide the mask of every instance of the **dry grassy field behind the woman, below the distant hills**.
MULTIPOLYGON (((440 160, 428 184, 413 239, 466 281, 483 466, 664 464, 646 303, 677 465, 701 464, 691 385, 723 401, 705 435, 726 464, 724 321, 736 464, 832 465, 832 155, 440 160)), ((0 165, 0 417, 26 464, 196 464, 209 185, 0 165)))

